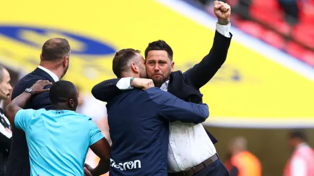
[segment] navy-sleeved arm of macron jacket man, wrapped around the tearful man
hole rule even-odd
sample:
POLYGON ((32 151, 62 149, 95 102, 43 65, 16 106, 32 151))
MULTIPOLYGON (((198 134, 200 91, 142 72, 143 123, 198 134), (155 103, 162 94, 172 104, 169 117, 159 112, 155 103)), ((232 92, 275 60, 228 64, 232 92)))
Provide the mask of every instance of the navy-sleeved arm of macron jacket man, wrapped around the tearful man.
POLYGON ((202 123, 209 116, 209 108, 206 104, 194 104, 184 102, 167 91, 159 88, 146 90, 148 98, 154 102, 158 114, 170 122, 182 121, 186 123, 202 123))

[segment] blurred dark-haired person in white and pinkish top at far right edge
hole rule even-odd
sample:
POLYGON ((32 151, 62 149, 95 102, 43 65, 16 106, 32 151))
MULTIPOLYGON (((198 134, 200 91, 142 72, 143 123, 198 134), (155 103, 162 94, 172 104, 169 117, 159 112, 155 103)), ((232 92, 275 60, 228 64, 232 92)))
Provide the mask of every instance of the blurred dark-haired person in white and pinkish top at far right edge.
POLYGON ((314 176, 314 151, 307 144, 305 132, 292 131, 288 140, 293 153, 287 161, 284 176, 314 176))

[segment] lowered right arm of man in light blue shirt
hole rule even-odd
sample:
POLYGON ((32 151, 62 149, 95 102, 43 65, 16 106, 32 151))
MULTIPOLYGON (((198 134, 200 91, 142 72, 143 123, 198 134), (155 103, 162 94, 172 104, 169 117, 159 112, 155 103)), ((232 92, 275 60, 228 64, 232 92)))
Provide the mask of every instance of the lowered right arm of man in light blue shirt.
POLYGON ((104 137, 90 146, 90 149, 100 158, 98 166, 91 168, 88 164, 84 165, 84 174, 86 176, 100 176, 109 171, 110 164, 110 145, 104 137))

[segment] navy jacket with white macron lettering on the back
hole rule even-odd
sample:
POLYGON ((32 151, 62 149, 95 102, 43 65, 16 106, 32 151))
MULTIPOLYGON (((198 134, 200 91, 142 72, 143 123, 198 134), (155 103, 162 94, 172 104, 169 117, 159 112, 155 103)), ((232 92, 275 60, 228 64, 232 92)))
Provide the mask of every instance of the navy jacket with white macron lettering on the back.
POLYGON ((159 88, 134 88, 107 102, 107 113, 110 176, 167 176, 169 121, 201 123, 209 109, 159 88))

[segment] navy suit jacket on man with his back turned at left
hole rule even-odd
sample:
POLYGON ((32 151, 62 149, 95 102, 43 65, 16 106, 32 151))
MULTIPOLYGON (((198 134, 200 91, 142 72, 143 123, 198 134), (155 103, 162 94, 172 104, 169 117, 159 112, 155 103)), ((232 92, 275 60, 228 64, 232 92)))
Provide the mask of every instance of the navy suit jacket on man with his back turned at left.
MULTIPOLYGON (((38 80, 48 80, 54 83, 52 77, 40 68, 36 68, 31 73, 24 76, 15 85, 12 91, 12 100, 24 92, 26 88, 30 88, 38 80)), ((49 87, 48 87, 49 88, 49 87)), ((32 97, 24 109, 50 109, 51 103, 49 99, 49 92, 44 92, 32 97)), ((25 132, 12 126, 12 144, 8 158, 5 176, 29 176, 29 154, 26 143, 25 132)))

